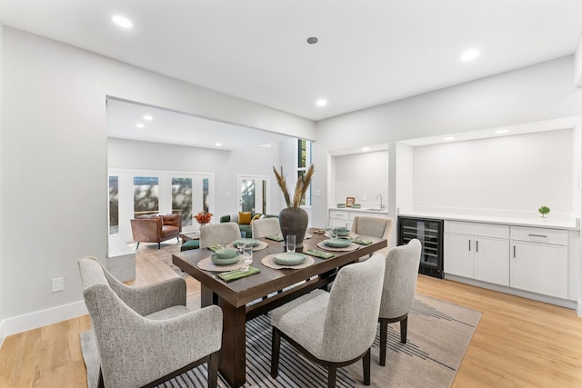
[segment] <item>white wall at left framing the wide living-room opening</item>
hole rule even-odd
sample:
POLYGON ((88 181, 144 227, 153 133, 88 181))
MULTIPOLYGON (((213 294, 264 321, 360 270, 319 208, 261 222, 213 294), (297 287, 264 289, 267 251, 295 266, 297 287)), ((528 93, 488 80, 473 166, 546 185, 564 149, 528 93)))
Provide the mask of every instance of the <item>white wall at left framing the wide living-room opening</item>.
POLYGON ((77 260, 105 257, 107 95, 283 134, 315 124, 4 27, 6 333, 82 313, 77 260), (50 279, 65 277, 65 291, 50 279))

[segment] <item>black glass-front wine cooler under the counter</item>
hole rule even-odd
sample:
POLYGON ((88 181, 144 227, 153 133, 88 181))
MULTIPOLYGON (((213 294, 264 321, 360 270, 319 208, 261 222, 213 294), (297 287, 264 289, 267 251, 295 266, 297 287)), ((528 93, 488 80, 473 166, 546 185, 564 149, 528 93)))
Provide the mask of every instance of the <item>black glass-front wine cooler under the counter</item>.
POLYGON ((443 220, 398 216, 398 245, 408 244, 417 238, 422 244, 419 274, 442 279, 443 268, 443 220))

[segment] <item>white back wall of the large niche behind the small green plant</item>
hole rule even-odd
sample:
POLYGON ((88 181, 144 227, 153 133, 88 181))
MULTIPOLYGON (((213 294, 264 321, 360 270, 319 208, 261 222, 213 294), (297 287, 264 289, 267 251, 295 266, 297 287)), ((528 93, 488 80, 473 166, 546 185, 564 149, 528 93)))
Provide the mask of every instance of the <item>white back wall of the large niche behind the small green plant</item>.
MULTIPOLYGON (((537 217, 574 212, 573 130, 417 146, 415 210, 537 217)), ((578 152, 579 153, 579 152, 578 152)))

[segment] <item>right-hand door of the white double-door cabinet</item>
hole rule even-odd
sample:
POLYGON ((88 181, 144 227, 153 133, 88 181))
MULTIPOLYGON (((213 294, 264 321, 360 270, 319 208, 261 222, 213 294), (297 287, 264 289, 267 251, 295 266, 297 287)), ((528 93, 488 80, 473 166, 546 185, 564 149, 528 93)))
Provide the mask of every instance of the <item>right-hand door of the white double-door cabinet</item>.
POLYGON ((475 236, 475 278, 509 285, 509 240, 475 236))

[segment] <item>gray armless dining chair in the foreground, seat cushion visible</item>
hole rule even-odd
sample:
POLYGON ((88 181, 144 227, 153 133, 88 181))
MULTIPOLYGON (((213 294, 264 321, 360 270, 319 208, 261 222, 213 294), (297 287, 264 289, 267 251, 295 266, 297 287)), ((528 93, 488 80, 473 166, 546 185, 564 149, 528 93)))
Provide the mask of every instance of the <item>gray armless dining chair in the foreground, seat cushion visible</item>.
POLYGON ((316 290, 273 310, 271 376, 278 375, 283 337, 309 360, 327 367, 328 387, 336 386, 337 368, 360 359, 369 385, 385 265, 382 254, 348 264, 338 271, 330 293, 316 290))

